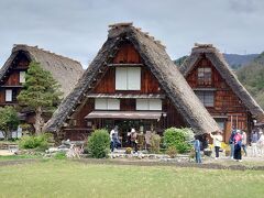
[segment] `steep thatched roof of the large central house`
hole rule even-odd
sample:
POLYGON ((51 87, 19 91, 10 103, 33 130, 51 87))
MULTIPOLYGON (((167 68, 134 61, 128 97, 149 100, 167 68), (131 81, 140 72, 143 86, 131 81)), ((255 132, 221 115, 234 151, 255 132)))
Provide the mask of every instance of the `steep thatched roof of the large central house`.
POLYGON ((130 42, 140 53, 143 63, 157 78, 176 109, 196 133, 209 133, 219 130, 218 124, 204 108, 184 76, 175 67, 161 42, 135 29, 131 24, 110 26, 108 40, 80 78, 73 92, 62 102, 52 119, 45 125, 46 131, 59 131, 67 117, 86 97, 96 76, 107 66, 122 42, 130 42))

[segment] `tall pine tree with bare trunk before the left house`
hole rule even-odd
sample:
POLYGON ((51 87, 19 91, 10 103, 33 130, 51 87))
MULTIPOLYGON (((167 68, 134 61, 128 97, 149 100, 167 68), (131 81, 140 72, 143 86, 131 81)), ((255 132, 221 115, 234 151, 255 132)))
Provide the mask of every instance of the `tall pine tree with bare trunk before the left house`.
POLYGON ((35 132, 42 133, 43 112, 53 111, 61 102, 62 92, 52 74, 44 70, 40 63, 32 62, 25 74, 23 89, 18 96, 20 106, 30 107, 35 113, 35 132))

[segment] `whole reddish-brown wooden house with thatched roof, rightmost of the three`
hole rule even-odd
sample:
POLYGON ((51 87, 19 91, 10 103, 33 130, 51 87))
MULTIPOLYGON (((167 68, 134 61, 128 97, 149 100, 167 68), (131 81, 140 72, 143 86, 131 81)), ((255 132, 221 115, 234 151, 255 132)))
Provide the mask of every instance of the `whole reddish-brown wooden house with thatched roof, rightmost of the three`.
POLYGON ((254 127, 253 121, 263 120, 262 108, 241 85, 222 54, 212 45, 197 44, 180 66, 180 72, 224 131, 226 142, 232 128, 250 133, 254 127))

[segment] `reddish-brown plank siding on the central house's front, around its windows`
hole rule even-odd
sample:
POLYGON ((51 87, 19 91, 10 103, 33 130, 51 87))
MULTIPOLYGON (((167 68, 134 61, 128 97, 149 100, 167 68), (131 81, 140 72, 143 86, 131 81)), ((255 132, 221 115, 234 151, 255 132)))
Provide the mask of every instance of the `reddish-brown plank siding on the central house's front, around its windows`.
MULTIPOLYGON (((122 95, 164 95, 164 90, 158 80, 151 73, 151 70, 143 64, 140 54, 135 51, 132 44, 124 43, 120 46, 119 52, 113 57, 112 62, 108 64, 106 70, 96 78, 95 87, 88 92, 97 96, 103 94, 111 96, 114 94, 122 95), (141 67, 141 88, 140 90, 117 90, 116 89, 116 69, 118 67, 141 67)), ((87 95, 88 95, 87 94, 87 95)), ((67 120, 67 127, 63 130, 64 139, 80 140, 87 136, 94 129, 109 128, 111 119, 85 119, 87 114, 95 110, 95 98, 87 97, 85 102, 78 106, 67 120), (82 138, 81 138, 82 136, 82 138)), ((136 98, 119 98, 120 109, 118 111, 136 111, 136 98)), ((163 133, 164 129, 168 127, 187 127, 184 119, 177 112, 169 99, 164 96, 162 99, 162 111, 164 116, 160 120, 155 120, 155 130, 163 133)), ((118 119, 122 120, 122 119, 118 119)), ((112 120, 113 121, 113 120, 112 120)), ((147 121, 145 121, 147 122, 147 121)))

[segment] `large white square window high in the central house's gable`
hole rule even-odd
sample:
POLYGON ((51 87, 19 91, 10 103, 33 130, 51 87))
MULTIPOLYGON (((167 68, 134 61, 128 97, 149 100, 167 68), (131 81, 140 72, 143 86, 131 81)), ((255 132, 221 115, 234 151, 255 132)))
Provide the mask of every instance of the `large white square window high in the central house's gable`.
POLYGON ((141 68, 140 67, 117 67, 116 68, 117 90, 140 90, 141 68))

